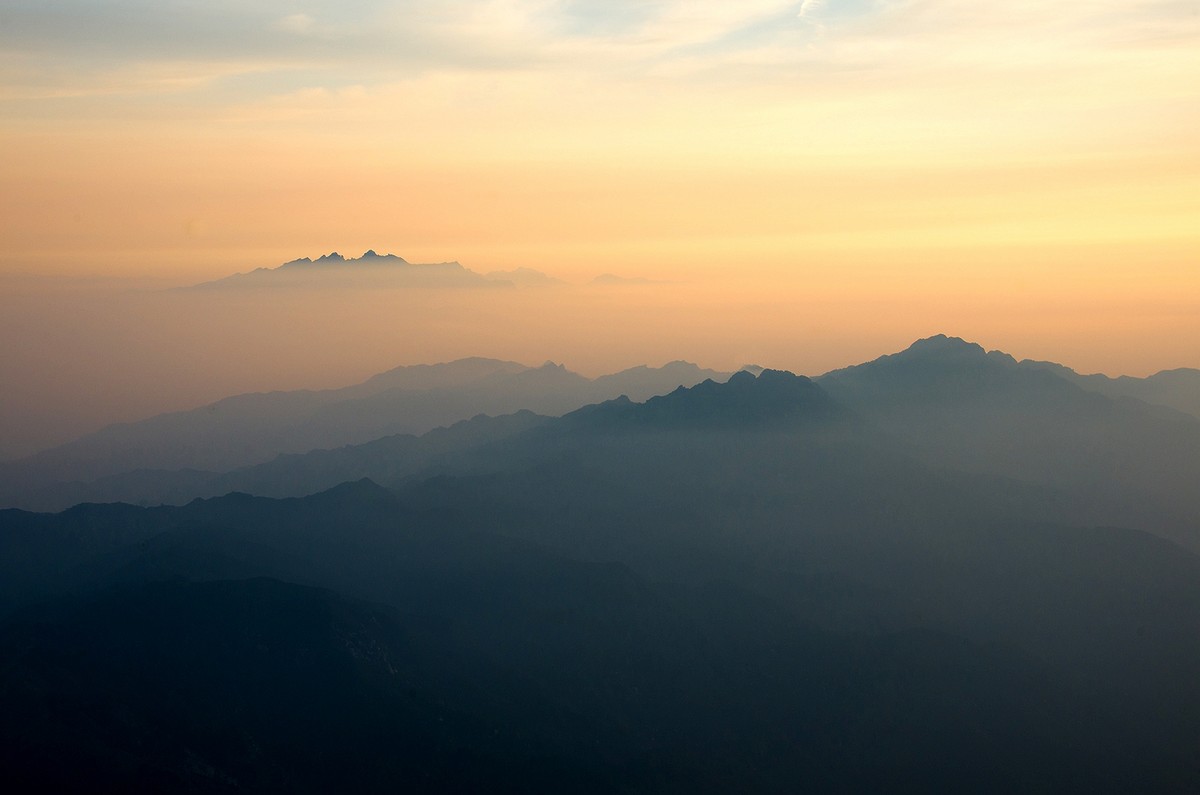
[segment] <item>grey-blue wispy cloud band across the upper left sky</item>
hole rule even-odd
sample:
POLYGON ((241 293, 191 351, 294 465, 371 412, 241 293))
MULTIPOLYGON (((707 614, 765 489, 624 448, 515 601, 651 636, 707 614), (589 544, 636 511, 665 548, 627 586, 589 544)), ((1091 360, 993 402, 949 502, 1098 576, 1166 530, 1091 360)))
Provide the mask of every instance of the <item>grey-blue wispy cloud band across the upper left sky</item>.
POLYGON ((286 70, 352 72, 349 82, 370 83, 430 70, 636 65, 721 41, 794 4, 311 0, 298 11, 290 0, 16 0, 0 24, 0 52, 58 65, 80 79, 133 62, 276 61, 286 70))

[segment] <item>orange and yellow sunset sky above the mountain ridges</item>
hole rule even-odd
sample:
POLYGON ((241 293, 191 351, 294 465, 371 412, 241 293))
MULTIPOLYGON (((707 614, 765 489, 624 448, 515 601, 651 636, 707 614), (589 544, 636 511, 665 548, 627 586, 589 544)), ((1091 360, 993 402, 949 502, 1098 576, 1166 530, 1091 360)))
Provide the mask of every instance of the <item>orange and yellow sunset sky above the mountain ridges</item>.
MULTIPOLYGON (((666 282, 546 299, 566 333, 496 351, 527 361, 814 372, 944 331, 1082 371, 1200 366, 1195 0, 6 0, 0 151, 10 384, 146 343, 80 311, 80 280, 366 249, 666 282)), ((472 328, 355 373, 494 347, 472 328)), ((272 388, 246 361, 286 342, 264 345, 209 391, 272 388)), ((352 375, 286 353, 280 387, 352 375)))

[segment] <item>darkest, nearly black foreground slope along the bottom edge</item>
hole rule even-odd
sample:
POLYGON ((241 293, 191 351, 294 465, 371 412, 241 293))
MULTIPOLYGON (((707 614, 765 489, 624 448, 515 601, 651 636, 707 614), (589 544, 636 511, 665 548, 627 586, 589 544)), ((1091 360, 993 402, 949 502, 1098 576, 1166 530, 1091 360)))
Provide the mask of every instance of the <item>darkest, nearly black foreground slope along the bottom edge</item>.
POLYGON ((577 596, 607 597, 599 610, 550 626, 529 626, 506 591, 479 616, 565 630, 541 646, 548 659, 464 642, 454 621, 478 603, 414 615, 271 580, 66 603, 0 627, 7 781, 13 791, 1112 791, 1100 772, 1124 783, 1136 771, 1075 751, 1104 739, 1086 719, 1094 710, 1003 653, 931 633, 797 630, 728 588, 683 615, 598 585, 577 596), (1049 760, 1012 763, 1048 748, 1049 760))

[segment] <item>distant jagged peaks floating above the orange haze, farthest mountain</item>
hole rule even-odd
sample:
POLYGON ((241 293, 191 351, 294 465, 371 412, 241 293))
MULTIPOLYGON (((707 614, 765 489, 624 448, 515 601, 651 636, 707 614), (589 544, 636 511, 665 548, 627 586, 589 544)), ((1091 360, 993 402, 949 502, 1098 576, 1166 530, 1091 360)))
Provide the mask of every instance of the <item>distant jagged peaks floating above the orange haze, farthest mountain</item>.
POLYGON ((301 257, 277 268, 257 268, 248 273, 203 282, 187 289, 256 288, 512 288, 529 285, 553 285, 558 280, 532 268, 479 274, 457 262, 414 264, 392 253, 367 250, 361 257, 343 257, 338 252, 312 259, 301 257))

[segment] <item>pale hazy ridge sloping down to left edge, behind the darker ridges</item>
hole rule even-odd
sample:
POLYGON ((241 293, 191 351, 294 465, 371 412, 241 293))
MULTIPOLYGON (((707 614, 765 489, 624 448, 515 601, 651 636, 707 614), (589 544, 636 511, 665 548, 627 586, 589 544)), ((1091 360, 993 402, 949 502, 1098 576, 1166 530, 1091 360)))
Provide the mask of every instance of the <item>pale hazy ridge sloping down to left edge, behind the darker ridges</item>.
MULTIPOLYGON (((74 442, 0 465, 0 504, 64 508, 103 497, 83 488, 140 471, 139 478, 191 478, 269 461, 276 455, 425 434, 476 414, 562 414, 628 395, 644 400, 727 373, 685 361, 586 378, 562 365, 529 367, 494 359, 396 367, 342 389, 257 393, 200 408, 119 424, 74 442), (76 483, 67 488, 65 484, 76 483), (66 502, 64 502, 66 501, 66 502)), ((344 478, 343 478, 344 479, 344 478)), ((193 495, 197 496, 197 495, 193 495)))

